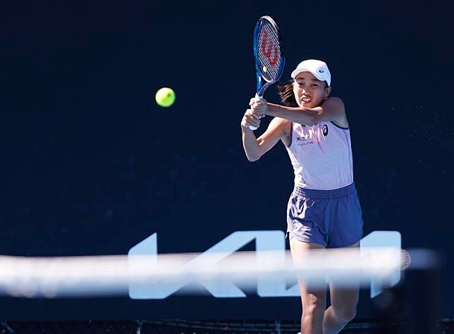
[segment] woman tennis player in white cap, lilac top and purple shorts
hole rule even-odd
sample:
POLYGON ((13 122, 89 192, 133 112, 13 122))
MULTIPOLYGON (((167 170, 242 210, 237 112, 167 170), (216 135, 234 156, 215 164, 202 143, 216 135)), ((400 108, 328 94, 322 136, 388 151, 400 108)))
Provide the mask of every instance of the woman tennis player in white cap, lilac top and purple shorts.
MULTIPOLYGON (((330 97, 331 73, 321 60, 304 60, 291 73, 292 81, 279 87, 283 105, 252 98, 241 122, 243 147, 249 161, 259 160, 279 140, 290 155, 295 188, 287 208, 287 238, 297 263, 314 248, 355 247, 362 237, 362 212, 353 182, 350 129, 343 101, 330 97), (274 117, 256 138, 249 126, 259 127, 265 115, 274 117)), ((315 290, 300 281, 301 331, 339 333, 356 315, 358 288, 330 283, 315 290)))

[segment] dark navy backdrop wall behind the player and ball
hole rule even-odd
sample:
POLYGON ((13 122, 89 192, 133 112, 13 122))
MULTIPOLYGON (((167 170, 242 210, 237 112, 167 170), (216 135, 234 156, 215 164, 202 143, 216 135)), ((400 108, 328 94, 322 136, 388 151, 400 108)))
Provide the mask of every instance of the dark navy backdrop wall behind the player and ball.
MULTIPOLYGON (((454 316, 452 18, 442 1, 2 1, 0 253, 203 252, 238 230, 285 229, 281 144, 247 162, 252 32, 281 27, 287 66, 329 63, 345 101, 364 234, 446 257, 454 316), (171 86, 172 108, 154 92, 171 86)), ((265 97, 277 102, 276 90, 265 97)), ((265 129, 264 121, 258 133, 265 129)), ((0 299, 4 319, 297 319, 297 298, 0 299), (24 313, 24 309, 27 313, 24 313)), ((363 297, 359 317, 371 317, 363 297)))

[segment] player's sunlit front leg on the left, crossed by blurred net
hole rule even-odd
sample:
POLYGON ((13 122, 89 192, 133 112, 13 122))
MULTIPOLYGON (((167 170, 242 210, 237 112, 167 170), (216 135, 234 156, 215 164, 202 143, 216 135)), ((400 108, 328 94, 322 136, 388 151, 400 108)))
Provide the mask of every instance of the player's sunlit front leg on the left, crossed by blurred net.
MULTIPOLYGON (((304 243, 296 238, 290 239, 290 251, 293 262, 298 264, 311 249, 324 249, 324 246, 317 243, 304 243)), ((311 288, 310 282, 298 282, 301 293, 302 316, 301 333, 323 334, 323 317, 326 308, 326 289, 311 288)))

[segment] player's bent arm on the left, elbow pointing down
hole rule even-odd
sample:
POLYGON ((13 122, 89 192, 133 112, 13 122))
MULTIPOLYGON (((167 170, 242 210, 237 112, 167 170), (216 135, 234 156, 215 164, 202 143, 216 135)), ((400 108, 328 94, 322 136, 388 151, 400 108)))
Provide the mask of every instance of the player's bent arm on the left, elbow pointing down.
POLYGON ((260 124, 259 117, 260 115, 254 114, 250 109, 247 109, 243 120, 241 121, 243 148, 245 149, 247 160, 251 162, 259 160, 260 157, 271 150, 280 139, 289 135, 288 129, 290 129, 290 122, 275 117, 269 123, 268 129, 266 129, 264 134, 259 136, 259 138, 256 138, 254 131, 249 129, 248 126, 252 125, 258 127, 260 124))

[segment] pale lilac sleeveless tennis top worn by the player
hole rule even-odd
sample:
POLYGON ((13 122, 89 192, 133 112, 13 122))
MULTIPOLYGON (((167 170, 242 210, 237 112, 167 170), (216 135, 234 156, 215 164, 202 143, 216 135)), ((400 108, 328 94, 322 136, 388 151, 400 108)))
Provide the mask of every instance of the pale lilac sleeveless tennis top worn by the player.
POLYGON ((295 186, 333 190, 353 183, 350 129, 333 122, 312 127, 293 122, 286 148, 295 172, 295 186))

